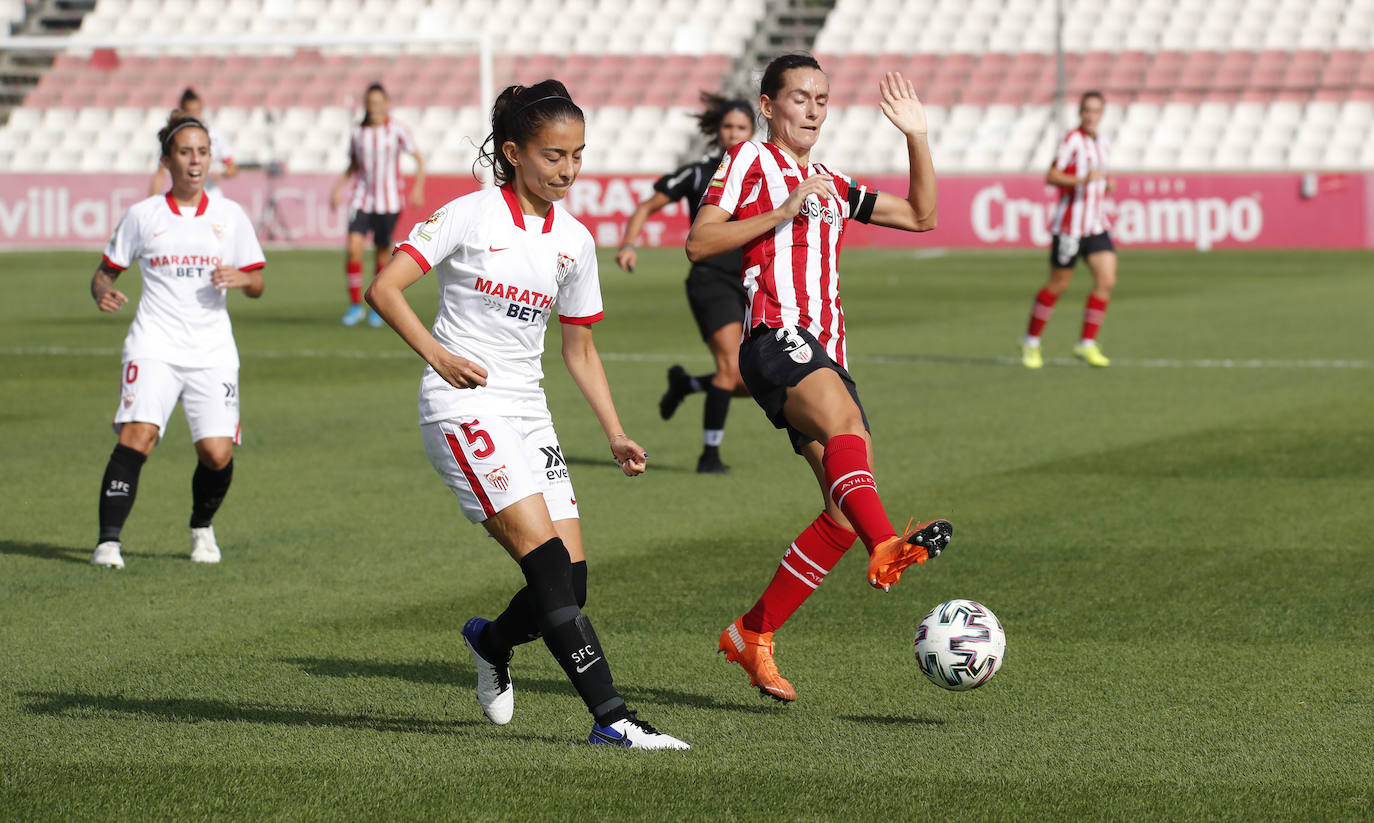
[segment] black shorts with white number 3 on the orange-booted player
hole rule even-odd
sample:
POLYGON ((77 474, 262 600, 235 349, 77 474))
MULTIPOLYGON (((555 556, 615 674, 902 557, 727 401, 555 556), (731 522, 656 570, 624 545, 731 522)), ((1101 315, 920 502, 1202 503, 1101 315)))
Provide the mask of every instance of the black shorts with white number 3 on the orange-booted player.
POLYGON ((796 386, 813 371, 829 368, 840 375, 853 397, 863 427, 868 429, 868 415, 859 401, 859 387, 845 367, 830 359, 826 348, 805 328, 768 328, 756 326, 745 342, 739 345, 739 375, 745 378, 749 393, 778 429, 786 429, 791 449, 801 453, 801 447, 813 438, 787 425, 782 407, 787 401, 787 389, 796 386))

